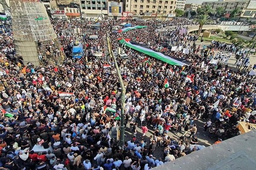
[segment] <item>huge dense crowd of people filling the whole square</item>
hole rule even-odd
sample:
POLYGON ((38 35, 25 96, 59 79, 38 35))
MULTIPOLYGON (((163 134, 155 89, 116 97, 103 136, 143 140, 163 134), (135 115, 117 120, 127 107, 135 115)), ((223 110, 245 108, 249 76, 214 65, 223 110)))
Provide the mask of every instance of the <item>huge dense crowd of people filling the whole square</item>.
MULTIPOLYGON (((189 21, 159 25, 157 20, 126 20, 148 27, 124 33, 111 31, 122 20, 102 20, 99 28, 87 28, 85 22, 89 62, 72 57, 73 40, 82 42, 81 35, 63 32, 81 27, 81 22, 51 22, 62 46, 59 52, 66 55, 58 65, 23 63, 15 54, 12 32, 0 35, 0 169, 149 170, 203 149, 197 135, 199 122, 205 122, 205 135, 216 143, 238 135, 239 121, 256 123, 255 77, 220 63, 207 64, 212 49, 221 45, 201 48, 196 35, 180 34, 189 21), (112 48, 122 48, 131 57, 117 59, 126 88, 124 145, 115 136, 121 119, 121 86, 108 54, 107 33, 112 48), (118 38, 189 64, 168 65, 122 47, 118 38), (188 48, 189 54, 172 51, 174 45, 188 48), (93 55, 100 52, 102 57, 93 55)), ((47 49, 41 45, 40 49, 47 49)))

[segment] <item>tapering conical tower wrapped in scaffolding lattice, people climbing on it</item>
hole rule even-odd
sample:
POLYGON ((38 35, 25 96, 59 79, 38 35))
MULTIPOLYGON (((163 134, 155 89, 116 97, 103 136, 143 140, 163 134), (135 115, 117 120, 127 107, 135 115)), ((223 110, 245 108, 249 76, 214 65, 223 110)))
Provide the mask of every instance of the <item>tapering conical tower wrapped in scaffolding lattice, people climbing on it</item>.
POLYGON ((15 51, 23 57, 24 64, 40 65, 38 54, 46 56, 49 63, 64 59, 43 3, 39 0, 10 0, 10 9, 15 51), (60 55, 53 56, 51 51, 58 50, 60 55))

